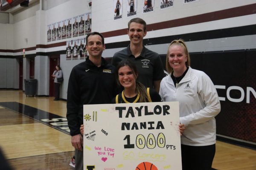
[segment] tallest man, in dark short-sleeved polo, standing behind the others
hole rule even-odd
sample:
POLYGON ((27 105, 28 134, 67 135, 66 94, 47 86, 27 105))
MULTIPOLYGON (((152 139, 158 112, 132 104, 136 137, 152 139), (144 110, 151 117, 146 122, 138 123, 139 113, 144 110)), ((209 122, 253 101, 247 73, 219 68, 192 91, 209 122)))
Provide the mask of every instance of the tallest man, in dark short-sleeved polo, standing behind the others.
POLYGON ((147 34, 146 25, 141 18, 133 18, 128 22, 127 33, 131 40, 130 45, 114 54, 112 65, 116 66, 123 59, 130 59, 136 64, 139 82, 159 92, 160 82, 165 74, 159 54, 143 45, 143 37, 147 34))

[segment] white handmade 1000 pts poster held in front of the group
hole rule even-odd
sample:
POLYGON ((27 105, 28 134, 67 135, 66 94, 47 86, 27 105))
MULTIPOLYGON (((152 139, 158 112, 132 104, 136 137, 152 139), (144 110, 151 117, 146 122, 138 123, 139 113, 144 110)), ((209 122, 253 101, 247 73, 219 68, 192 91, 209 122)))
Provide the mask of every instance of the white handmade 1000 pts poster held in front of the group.
POLYGON ((84 170, 182 170, 178 102, 84 105, 84 170))

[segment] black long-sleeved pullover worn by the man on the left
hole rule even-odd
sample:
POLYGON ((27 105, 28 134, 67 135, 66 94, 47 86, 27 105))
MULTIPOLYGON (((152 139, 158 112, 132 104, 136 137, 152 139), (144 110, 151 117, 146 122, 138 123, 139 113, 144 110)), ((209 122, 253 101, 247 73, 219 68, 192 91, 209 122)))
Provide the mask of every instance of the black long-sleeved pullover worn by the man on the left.
POLYGON ((83 105, 111 103, 117 94, 116 87, 115 67, 104 58, 100 67, 87 58, 72 69, 67 88, 67 121, 71 136, 80 134, 83 105))

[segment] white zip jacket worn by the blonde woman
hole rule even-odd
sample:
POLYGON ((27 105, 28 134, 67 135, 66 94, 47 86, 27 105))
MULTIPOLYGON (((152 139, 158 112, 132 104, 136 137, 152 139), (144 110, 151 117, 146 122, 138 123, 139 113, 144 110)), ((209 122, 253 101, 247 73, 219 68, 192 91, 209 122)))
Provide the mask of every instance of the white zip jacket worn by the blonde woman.
POLYGON ((185 125, 181 144, 207 146, 216 143, 214 117, 221 111, 221 104, 207 74, 189 67, 176 88, 168 75, 161 81, 159 94, 163 102, 179 102, 180 123, 185 125))

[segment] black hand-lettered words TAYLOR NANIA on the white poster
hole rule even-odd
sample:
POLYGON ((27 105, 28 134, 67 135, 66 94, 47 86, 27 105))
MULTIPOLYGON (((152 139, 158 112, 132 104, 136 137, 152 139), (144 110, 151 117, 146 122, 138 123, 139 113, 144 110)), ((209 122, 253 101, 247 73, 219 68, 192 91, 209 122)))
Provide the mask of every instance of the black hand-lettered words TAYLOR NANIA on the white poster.
MULTIPOLYGON (((149 115, 160 115, 163 114, 163 116, 170 114, 168 111, 170 109, 169 105, 156 105, 154 107, 153 112, 148 111, 148 106, 140 106, 140 107, 116 107, 116 111, 119 111, 119 118, 128 118, 128 117, 135 117, 134 112, 138 111, 137 116, 149 116, 149 115), (144 109, 143 109, 144 108, 144 109)), ((155 122, 140 122, 139 125, 137 122, 134 123, 122 123, 121 130, 139 130, 139 129, 164 129, 162 121, 155 122), (131 125, 132 124, 132 125, 131 125)))

